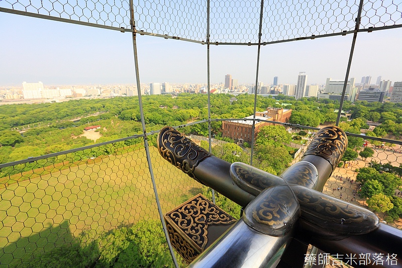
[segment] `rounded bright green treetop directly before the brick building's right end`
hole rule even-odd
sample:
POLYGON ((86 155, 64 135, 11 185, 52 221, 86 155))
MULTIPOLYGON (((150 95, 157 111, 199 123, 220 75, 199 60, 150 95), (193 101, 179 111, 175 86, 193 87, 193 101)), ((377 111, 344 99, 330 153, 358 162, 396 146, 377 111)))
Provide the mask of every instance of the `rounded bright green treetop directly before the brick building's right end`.
POLYGON ((262 127, 257 135, 255 143, 259 145, 281 146, 283 143, 290 143, 291 134, 283 126, 265 126, 262 127))

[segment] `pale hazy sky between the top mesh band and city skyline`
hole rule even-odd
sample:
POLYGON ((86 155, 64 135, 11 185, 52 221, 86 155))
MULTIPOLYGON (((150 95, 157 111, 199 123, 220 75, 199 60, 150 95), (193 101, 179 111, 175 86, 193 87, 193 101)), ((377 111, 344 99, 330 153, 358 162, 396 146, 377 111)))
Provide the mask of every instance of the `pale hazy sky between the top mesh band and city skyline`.
MULTIPOLYGON (((135 83, 131 33, 48 21, 0 12, 0 85, 23 81, 50 84, 135 83)), ((259 81, 307 83, 344 79, 352 35, 261 47, 259 81)), ((207 46, 138 36, 141 82, 207 81, 207 46)), ((402 29, 359 33, 350 77, 402 81, 402 29)), ((211 82, 232 74, 255 82, 256 46, 211 46, 211 82)))

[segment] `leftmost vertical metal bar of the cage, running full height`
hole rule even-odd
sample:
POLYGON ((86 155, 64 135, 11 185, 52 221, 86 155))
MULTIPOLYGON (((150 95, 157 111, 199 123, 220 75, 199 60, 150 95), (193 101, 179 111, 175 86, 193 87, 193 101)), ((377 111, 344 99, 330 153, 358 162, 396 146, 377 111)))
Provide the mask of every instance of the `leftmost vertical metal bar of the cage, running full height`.
POLYGON ((152 187, 154 189, 154 194, 155 194, 155 199, 156 199, 156 205, 158 207, 159 218, 160 218, 160 221, 162 223, 163 232, 165 233, 166 242, 167 242, 167 245, 169 247, 169 251, 170 251, 170 254, 172 256, 174 266, 176 268, 178 268, 179 265, 177 263, 176 256, 174 255, 173 247, 172 247, 172 244, 170 243, 169 234, 167 232, 166 224, 165 224, 165 221, 163 219, 162 208, 161 208, 161 205, 160 205, 160 202, 159 202, 159 196, 158 196, 158 191, 156 189, 154 172, 153 172, 153 169, 152 169, 151 155, 149 153, 149 145, 148 145, 147 131, 146 131, 146 128, 145 128, 145 118, 144 118, 144 110, 143 110, 142 96, 141 96, 140 71, 139 71, 139 68, 138 68, 137 40, 136 40, 136 34, 137 33, 136 33, 136 29, 135 29, 133 0, 130 0, 130 13, 131 13, 130 25, 131 25, 131 28, 133 29, 133 51, 134 51, 135 75, 136 75, 136 81, 137 81, 138 103, 139 103, 139 106, 140 106, 141 126, 142 126, 142 130, 144 132, 144 146, 145 146, 145 152, 146 152, 146 155, 147 155, 149 174, 151 176, 152 187))

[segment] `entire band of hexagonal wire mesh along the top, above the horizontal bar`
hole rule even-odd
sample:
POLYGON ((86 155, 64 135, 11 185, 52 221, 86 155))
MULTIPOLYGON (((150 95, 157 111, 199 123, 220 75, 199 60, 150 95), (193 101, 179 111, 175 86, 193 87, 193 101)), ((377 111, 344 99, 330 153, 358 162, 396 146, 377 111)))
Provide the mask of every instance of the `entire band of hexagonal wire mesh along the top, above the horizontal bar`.
MULTIPOLYGON (((144 1, 133 3, 136 29, 149 34, 206 41, 210 13, 211 43, 258 43, 261 1, 207 0, 144 1)), ((344 34, 355 26, 356 0, 263 1, 261 41, 275 42, 300 37, 344 34)), ((130 28, 128 0, 3 0, 0 8, 29 12, 79 22, 130 28)), ((29 16, 33 16, 32 14, 29 16)), ((361 29, 402 23, 402 3, 365 0, 361 29)))

